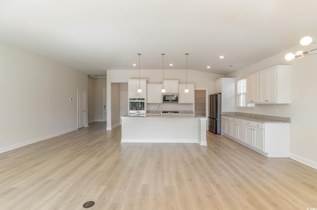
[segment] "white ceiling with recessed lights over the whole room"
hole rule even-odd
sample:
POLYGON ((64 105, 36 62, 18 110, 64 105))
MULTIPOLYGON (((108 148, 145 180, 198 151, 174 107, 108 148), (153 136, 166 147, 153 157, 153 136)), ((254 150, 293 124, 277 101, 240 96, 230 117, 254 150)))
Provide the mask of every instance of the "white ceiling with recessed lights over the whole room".
POLYGON ((141 70, 162 69, 161 53, 186 69, 188 52, 188 69, 227 75, 317 37, 316 12, 317 0, 0 0, 0 40, 87 74, 138 69, 137 53, 141 70))

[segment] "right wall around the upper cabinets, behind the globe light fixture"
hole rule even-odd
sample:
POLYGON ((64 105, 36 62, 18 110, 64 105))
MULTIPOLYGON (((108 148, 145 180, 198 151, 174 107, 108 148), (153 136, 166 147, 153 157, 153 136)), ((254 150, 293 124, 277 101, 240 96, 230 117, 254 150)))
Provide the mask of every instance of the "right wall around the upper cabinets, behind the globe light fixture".
POLYGON ((290 117, 290 152, 291 158, 317 168, 317 137, 315 135, 317 119, 317 55, 308 55, 293 61, 286 61, 284 56, 288 52, 313 49, 314 45, 294 46, 263 61, 246 67, 230 77, 241 78, 247 74, 265 68, 281 65, 291 65, 291 103, 290 104, 261 104, 255 105, 254 110, 237 110, 247 113, 290 117), (259 109, 259 111, 258 111, 259 109), (277 109, 277 113, 275 110, 277 109))

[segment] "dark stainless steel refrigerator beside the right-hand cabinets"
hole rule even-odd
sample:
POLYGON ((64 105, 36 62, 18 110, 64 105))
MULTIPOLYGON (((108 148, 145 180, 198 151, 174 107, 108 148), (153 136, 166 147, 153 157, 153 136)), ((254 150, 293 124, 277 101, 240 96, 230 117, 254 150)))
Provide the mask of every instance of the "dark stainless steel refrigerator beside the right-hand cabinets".
POLYGON ((221 93, 209 95, 209 130, 221 134, 221 93))

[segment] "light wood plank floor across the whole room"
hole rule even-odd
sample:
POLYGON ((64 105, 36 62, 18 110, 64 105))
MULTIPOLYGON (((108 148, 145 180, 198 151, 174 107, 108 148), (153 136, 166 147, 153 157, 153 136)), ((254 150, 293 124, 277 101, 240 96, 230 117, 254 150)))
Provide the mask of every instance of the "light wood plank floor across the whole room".
POLYGON ((224 136, 198 144, 120 143, 96 122, 0 154, 0 210, 307 210, 317 170, 224 136))

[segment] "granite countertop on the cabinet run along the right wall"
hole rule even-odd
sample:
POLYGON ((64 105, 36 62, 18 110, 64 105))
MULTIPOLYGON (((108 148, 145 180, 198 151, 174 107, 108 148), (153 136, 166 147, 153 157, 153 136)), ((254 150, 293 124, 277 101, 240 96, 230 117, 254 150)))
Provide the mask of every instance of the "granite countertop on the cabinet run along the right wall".
POLYGON ((244 120, 257 121, 261 123, 291 123, 291 118, 286 117, 277 117, 269 115, 257 115, 241 112, 223 112, 221 115, 240 118, 244 120))

